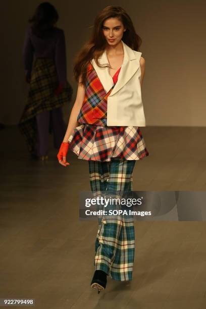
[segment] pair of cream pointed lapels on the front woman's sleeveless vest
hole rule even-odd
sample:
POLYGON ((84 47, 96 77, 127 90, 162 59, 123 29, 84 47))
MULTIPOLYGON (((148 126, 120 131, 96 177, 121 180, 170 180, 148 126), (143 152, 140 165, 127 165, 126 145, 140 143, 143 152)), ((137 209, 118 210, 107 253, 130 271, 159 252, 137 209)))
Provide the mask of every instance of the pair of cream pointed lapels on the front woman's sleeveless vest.
MULTIPOLYGON (((124 49, 124 59, 123 64, 118 76, 117 83, 113 88, 110 96, 115 94, 118 90, 120 90, 128 81, 129 79, 135 74, 135 72, 140 68, 139 60, 141 53, 138 52, 136 56, 133 50, 126 45, 123 41, 123 49, 124 49)), ((98 58, 99 63, 102 65, 109 64, 106 50, 102 53, 101 57, 98 58)), ((109 73, 109 68, 100 68, 96 65, 94 59, 91 60, 91 63, 96 71, 96 74, 104 87, 105 91, 108 92, 112 86, 114 85, 112 76, 109 73)))

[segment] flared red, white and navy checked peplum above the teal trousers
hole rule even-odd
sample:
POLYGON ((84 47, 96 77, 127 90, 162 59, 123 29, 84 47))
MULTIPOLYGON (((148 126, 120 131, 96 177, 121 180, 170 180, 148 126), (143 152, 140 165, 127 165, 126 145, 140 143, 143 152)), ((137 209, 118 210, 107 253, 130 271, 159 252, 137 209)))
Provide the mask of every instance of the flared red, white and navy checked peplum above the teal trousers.
POLYGON ((149 155, 139 127, 108 127, 82 124, 70 135, 69 148, 78 159, 139 160, 149 155))

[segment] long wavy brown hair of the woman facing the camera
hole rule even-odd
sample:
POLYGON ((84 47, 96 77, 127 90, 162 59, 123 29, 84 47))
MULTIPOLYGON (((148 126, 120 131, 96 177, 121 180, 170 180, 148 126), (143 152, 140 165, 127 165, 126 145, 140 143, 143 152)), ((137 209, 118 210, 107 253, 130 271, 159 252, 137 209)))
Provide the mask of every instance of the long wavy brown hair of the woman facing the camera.
MULTIPOLYGON (((102 25, 104 21, 110 17, 117 17, 121 20, 126 31, 124 31, 122 41, 133 50, 139 51, 139 46, 142 43, 140 36, 135 32, 133 23, 129 15, 121 7, 108 6, 103 9, 95 18, 93 32, 90 39, 83 45, 80 52, 74 59, 74 78, 78 82, 81 76, 81 83, 86 85, 87 66, 91 59, 95 59, 96 64, 102 67, 98 58, 106 48, 106 39, 102 33, 102 25)), ((104 67, 110 67, 109 65, 104 67)))

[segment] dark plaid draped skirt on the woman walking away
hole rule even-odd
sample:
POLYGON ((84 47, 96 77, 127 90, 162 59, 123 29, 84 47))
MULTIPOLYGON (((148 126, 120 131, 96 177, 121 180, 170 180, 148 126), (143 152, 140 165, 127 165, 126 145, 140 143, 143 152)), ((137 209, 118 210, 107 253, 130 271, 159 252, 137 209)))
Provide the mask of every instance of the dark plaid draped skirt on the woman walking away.
MULTIPOLYGON (((36 115, 50 111, 70 102, 73 89, 67 82, 59 95, 54 95, 58 87, 58 75, 55 62, 48 58, 36 58, 34 61, 27 104, 19 121, 19 129, 25 136, 30 152, 35 151, 37 141, 36 115)), ((50 130, 51 132, 51 130, 50 130)))

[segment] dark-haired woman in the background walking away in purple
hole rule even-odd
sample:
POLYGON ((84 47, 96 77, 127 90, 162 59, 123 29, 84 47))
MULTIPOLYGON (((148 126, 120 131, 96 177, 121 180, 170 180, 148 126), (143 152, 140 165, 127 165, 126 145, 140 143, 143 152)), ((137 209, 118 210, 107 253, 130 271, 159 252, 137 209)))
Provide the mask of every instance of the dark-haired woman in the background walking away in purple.
POLYGON ((67 82, 64 31, 55 26, 58 19, 54 6, 40 4, 29 20, 23 47, 29 92, 19 128, 31 157, 40 160, 48 159, 49 133, 54 134, 54 147, 61 145, 66 130, 62 106, 73 91, 67 82))

